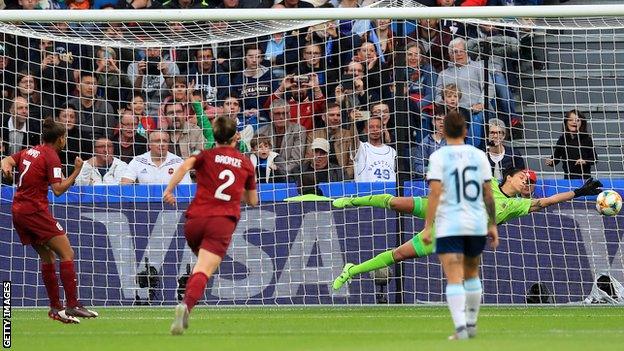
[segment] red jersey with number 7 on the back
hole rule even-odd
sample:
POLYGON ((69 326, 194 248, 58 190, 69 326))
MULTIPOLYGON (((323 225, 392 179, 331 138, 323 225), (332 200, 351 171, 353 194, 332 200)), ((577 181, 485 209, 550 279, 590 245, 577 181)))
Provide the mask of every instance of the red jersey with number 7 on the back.
POLYGON ((38 145, 11 157, 19 170, 13 213, 48 212, 48 186, 63 180, 61 159, 56 149, 38 145))

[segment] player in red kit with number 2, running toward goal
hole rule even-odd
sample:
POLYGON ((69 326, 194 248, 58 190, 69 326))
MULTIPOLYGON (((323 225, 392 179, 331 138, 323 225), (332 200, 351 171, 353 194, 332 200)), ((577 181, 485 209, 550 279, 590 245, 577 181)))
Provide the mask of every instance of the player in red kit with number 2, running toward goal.
POLYGON ((225 256, 240 219, 241 200, 251 206, 258 204, 254 167, 235 149, 236 121, 217 118, 213 129, 217 147, 184 161, 163 194, 166 203, 175 204, 174 188, 186 172, 195 169, 197 193, 186 210, 184 235, 197 263, 186 283, 184 300, 176 306, 171 324, 173 335, 188 328, 189 313, 204 295, 208 279, 225 256))

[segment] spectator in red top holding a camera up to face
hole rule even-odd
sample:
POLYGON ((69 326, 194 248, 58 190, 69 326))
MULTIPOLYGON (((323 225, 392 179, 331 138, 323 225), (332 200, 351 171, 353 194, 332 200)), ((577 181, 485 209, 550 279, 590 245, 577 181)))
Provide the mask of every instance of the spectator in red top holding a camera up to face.
POLYGON ((273 95, 267 99, 265 107, 277 99, 288 101, 290 120, 300 124, 308 132, 314 128, 314 116, 322 113, 325 108, 325 96, 319 87, 318 76, 315 73, 287 75, 273 95))

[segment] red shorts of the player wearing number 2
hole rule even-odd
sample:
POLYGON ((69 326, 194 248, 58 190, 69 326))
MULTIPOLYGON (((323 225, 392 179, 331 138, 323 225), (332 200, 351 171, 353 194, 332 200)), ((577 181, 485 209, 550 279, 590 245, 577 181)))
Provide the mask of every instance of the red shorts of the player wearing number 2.
POLYGON ((202 248, 223 258, 230 246, 236 224, 234 217, 187 218, 184 236, 195 254, 202 248))

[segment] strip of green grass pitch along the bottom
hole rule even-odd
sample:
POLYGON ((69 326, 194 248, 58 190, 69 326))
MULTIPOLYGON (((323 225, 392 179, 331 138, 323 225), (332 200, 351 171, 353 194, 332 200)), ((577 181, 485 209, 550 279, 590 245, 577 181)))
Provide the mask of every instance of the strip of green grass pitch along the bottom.
POLYGON ((621 350, 624 308, 482 308, 476 339, 450 342, 445 307, 209 308, 169 335, 172 308, 100 309, 63 325, 13 309, 13 350, 621 350))

